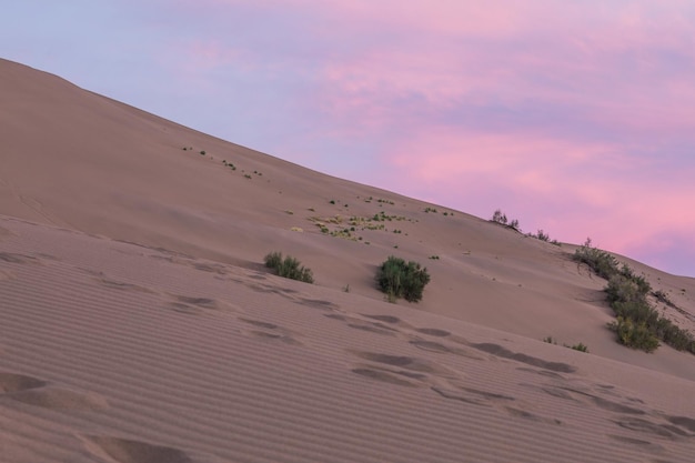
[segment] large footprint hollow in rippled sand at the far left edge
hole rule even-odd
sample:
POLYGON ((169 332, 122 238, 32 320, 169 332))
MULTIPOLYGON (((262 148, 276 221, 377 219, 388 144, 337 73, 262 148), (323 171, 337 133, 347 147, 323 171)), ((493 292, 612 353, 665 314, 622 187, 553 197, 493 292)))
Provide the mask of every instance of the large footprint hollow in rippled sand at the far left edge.
POLYGON ((0 399, 51 410, 103 410, 107 400, 93 392, 51 385, 32 376, 0 373, 0 399))

